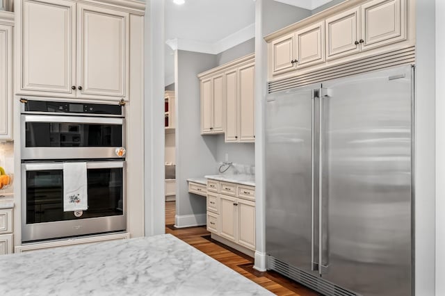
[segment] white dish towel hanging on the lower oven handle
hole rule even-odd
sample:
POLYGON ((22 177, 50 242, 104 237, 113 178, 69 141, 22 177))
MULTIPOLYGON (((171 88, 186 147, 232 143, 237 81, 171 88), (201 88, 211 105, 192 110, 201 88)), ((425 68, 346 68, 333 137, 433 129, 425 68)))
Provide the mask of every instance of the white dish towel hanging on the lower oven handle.
POLYGON ((88 210, 86 163, 63 163, 63 211, 88 210))

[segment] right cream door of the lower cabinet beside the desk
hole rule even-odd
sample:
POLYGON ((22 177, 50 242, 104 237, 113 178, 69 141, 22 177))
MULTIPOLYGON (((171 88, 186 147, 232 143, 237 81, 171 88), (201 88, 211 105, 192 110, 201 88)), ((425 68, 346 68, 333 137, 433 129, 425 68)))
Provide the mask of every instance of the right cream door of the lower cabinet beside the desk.
POLYGON ((255 203, 238 199, 238 243, 255 249, 255 203))

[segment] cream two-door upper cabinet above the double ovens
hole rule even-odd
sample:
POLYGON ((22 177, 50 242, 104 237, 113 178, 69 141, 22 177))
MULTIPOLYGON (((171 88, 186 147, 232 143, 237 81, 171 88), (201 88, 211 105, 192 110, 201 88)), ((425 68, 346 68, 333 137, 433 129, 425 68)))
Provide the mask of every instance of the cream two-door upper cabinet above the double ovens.
POLYGON ((15 7, 17 94, 129 99, 129 13, 67 0, 15 7))

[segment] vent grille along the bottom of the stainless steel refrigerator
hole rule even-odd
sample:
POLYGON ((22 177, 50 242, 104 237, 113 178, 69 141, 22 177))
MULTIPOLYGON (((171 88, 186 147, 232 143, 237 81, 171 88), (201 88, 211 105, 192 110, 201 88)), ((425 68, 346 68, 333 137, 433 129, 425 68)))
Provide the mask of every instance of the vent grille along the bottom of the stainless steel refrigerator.
POLYGON ((268 267, 271 270, 275 270, 276 272, 280 272, 284 274, 286 277, 293 279, 294 281, 298 281, 303 285, 311 288, 312 290, 316 290, 319 293, 327 296, 359 296, 359 294, 350 292, 346 289, 343 289, 334 283, 330 283, 329 281, 325 281, 321 277, 316 277, 313 274, 309 274, 298 268, 289 265, 279 259, 269 256, 269 265, 268 267))

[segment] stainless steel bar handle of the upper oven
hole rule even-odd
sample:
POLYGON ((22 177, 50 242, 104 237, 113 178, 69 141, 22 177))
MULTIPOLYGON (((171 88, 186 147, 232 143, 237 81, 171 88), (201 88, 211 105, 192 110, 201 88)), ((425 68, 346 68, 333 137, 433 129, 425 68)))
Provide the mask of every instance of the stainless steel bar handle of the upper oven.
POLYGON ((123 124, 123 118, 108 117, 76 117, 76 116, 48 116, 48 115, 22 115, 24 122, 63 122, 86 124, 123 124))

